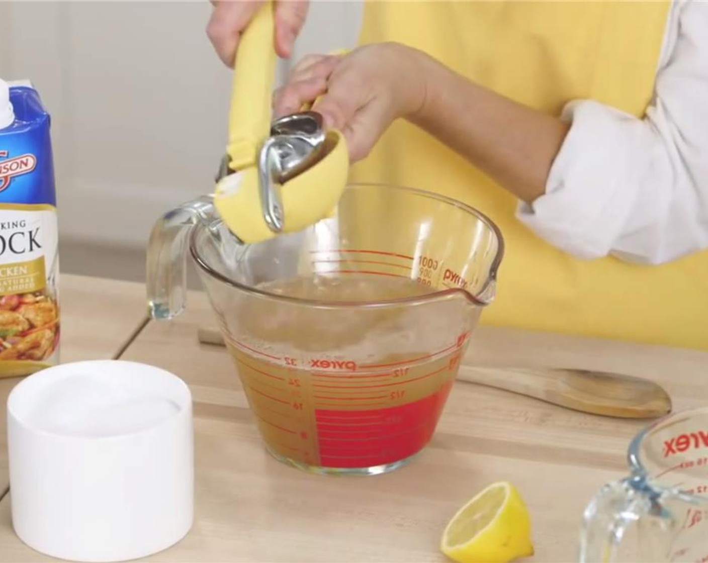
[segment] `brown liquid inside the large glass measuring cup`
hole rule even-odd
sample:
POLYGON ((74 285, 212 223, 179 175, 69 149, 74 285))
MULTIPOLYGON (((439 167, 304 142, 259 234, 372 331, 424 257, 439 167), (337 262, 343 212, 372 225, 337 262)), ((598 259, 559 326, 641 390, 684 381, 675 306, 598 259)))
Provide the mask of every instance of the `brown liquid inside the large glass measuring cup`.
MULTIPOLYGON (((408 278, 343 274, 259 288, 349 304, 431 291, 408 278)), ((305 465, 375 467, 432 437, 470 316, 459 299, 339 308, 258 299, 239 307, 227 346, 270 450, 305 465)))

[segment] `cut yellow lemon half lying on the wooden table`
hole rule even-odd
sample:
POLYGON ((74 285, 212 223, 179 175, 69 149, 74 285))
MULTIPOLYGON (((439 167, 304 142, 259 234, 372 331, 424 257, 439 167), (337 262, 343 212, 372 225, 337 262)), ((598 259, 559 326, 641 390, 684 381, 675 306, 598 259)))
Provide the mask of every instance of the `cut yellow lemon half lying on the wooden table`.
POLYGON ((533 555, 531 518, 508 482, 486 487, 452 517, 440 550, 458 563, 507 563, 533 555))

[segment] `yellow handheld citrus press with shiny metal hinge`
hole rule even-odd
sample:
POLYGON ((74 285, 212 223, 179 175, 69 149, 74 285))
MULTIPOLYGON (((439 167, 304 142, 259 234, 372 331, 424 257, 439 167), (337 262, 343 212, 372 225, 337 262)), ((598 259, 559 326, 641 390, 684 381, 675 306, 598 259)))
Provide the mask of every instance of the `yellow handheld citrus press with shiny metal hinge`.
POLYGON ((239 241, 296 232, 332 215, 348 178, 346 141, 311 110, 272 121, 273 2, 244 30, 234 64, 229 142, 214 206, 239 241))

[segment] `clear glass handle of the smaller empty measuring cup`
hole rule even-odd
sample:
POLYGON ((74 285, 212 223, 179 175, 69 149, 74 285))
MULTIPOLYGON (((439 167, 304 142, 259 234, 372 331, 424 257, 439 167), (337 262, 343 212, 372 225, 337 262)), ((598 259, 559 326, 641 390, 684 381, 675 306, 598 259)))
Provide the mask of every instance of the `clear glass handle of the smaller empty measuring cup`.
POLYGON ((630 526, 639 523, 636 542, 640 553, 633 561, 664 561, 673 538, 675 521, 644 479, 628 477, 606 484, 583 513, 581 563, 617 561, 617 548, 630 526), (637 559, 637 557, 639 557, 637 559))

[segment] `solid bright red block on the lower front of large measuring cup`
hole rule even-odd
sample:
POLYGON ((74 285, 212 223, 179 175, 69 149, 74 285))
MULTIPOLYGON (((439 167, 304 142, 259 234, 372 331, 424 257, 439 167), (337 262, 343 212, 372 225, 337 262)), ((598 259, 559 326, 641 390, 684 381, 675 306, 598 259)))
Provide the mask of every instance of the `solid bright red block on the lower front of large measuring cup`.
POLYGON ((316 409, 318 436, 324 434, 332 438, 319 445, 321 465, 383 465, 420 451, 433 436, 451 387, 452 381, 448 381, 437 392, 418 401, 365 413, 316 409), (352 440, 350 427, 360 422, 362 415, 373 416, 381 422, 368 431, 371 438, 352 440))

